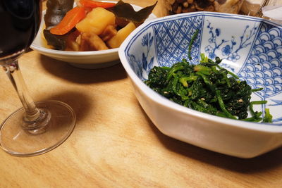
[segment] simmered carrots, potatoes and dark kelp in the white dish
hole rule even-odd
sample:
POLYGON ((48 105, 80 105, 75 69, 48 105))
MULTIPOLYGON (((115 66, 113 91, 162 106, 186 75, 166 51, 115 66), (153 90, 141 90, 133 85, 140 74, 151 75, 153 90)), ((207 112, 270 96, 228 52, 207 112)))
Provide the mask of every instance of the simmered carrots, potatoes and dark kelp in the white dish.
POLYGON ((44 16, 47 47, 66 51, 118 48, 130 32, 152 13, 154 6, 135 11, 130 4, 80 0, 49 0, 44 16))

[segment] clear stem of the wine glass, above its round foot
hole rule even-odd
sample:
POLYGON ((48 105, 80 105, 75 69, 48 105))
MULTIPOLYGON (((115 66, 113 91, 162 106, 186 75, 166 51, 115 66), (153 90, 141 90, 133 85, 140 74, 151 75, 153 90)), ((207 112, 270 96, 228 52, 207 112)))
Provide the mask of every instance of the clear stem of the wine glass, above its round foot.
POLYGON ((20 101, 23 104, 23 108, 25 109, 25 113, 23 114, 23 129, 32 134, 44 132, 46 130, 46 127, 44 127, 46 123, 41 122, 46 119, 48 112, 43 109, 38 109, 35 106, 35 102, 32 100, 25 85, 25 81, 23 80, 23 75, 20 72, 18 60, 7 63, 4 66, 4 70, 11 80, 13 87, 16 89, 20 101))

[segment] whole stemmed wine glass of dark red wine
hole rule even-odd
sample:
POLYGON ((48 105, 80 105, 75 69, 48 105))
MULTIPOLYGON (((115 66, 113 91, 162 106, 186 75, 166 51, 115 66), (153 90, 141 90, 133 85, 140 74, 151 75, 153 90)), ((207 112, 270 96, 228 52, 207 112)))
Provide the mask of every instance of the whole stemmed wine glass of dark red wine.
POLYGON ((63 143, 75 126, 75 113, 67 104, 34 102, 20 73, 18 58, 37 35, 41 11, 41 0, 0 0, 0 66, 23 104, 0 125, 0 146, 13 156, 46 153, 63 143))

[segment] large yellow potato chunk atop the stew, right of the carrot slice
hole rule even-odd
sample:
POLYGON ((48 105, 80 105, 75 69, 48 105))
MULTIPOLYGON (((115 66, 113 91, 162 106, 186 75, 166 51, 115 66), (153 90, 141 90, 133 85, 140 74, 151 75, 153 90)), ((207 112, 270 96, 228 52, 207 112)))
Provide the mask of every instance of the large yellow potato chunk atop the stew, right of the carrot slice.
POLYGON ((86 17, 80 21, 75 27, 80 32, 94 32, 100 35, 107 25, 115 25, 116 16, 114 13, 106 10, 105 8, 93 8, 86 17))

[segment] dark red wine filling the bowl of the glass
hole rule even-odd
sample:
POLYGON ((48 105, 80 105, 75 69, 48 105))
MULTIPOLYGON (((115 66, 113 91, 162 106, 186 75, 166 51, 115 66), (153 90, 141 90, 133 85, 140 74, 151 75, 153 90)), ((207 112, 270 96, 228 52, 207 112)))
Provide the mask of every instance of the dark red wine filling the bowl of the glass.
POLYGON ((39 1, 0 1, 0 57, 27 49, 40 24, 39 1))

